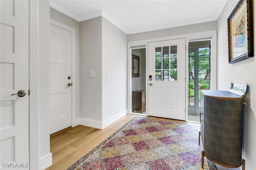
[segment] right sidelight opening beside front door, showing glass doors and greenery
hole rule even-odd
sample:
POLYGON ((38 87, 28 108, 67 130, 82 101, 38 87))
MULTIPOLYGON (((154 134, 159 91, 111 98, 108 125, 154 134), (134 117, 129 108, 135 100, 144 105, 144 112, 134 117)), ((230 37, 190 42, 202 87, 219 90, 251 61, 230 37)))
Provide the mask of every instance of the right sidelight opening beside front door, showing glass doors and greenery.
POLYGON ((188 120, 199 122, 201 90, 211 83, 211 40, 188 43, 188 74, 188 120))

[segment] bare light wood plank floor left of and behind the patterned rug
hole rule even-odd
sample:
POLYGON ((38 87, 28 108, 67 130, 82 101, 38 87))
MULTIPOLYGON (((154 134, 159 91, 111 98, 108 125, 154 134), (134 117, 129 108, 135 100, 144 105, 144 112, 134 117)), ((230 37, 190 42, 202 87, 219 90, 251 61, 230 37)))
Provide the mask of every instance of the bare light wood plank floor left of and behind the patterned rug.
MULTIPOLYGON (((128 114, 112 123, 105 129, 96 129, 78 125, 67 131, 50 137, 50 152, 52 153, 52 166, 46 170, 65 170, 74 162, 88 153, 94 147, 98 146, 102 141, 109 137, 112 133, 122 127, 125 123, 138 115, 128 114)), ((145 117, 145 116, 140 116, 145 117)), ((159 117, 149 117, 165 121, 177 121, 159 117)))

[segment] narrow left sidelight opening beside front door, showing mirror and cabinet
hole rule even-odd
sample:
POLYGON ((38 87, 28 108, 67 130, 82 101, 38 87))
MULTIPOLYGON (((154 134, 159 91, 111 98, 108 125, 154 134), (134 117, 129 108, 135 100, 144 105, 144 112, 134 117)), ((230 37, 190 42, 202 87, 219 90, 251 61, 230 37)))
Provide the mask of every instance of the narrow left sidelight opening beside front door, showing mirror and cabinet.
POLYGON ((146 115, 146 48, 132 49, 132 112, 146 115))

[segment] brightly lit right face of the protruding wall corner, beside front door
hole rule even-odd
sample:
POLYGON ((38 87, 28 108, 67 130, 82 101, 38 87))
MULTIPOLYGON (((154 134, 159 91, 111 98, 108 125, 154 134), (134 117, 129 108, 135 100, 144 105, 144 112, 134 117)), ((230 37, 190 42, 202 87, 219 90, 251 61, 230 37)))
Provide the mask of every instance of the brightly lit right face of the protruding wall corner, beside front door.
POLYGON ((103 127, 127 113, 127 35, 102 17, 103 127), (106 73, 110 78, 106 78, 106 73))

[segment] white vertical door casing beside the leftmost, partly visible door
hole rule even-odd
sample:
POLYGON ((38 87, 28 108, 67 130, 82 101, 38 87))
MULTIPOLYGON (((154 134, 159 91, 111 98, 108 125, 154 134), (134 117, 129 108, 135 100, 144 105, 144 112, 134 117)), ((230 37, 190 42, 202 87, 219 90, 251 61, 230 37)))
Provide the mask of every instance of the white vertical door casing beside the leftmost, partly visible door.
POLYGON ((29 166, 38 169, 38 1, 29 1, 29 166))

